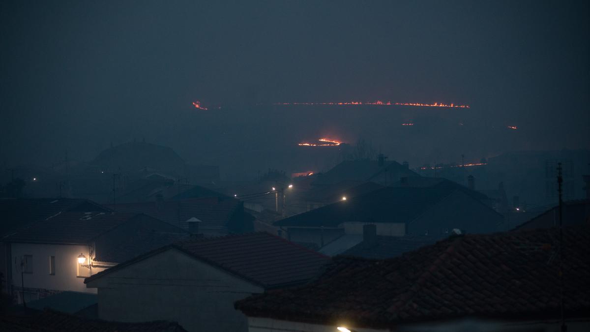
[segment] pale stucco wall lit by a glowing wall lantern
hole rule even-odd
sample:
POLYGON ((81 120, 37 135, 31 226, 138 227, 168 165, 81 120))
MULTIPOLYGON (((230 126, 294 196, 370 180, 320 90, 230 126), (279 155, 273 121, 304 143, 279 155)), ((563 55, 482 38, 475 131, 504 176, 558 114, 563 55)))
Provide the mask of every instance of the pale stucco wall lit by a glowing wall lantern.
MULTIPOLYGON (((77 257, 80 253, 83 253, 86 257, 90 257, 88 246, 11 243, 11 251, 12 285, 15 287, 22 286, 21 257, 32 255, 32 273, 22 275, 25 288, 96 293, 96 289, 86 288, 84 278, 77 276, 77 257), (55 275, 49 274, 50 256, 55 256, 55 275)), ((92 273, 96 274, 102 270, 93 268, 92 273)))

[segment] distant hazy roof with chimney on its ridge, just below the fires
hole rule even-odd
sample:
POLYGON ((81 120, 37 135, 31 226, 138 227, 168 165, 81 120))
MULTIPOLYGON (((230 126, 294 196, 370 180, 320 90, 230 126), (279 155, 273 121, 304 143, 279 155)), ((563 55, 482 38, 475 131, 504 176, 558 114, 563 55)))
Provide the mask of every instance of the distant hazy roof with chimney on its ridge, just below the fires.
POLYGON ((396 172, 400 176, 418 176, 417 173, 408 170, 404 165, 396 161, 386 161, 383 166, 379 166, 376 160, 355 160, 340 162, 340 164, 337 164, 331 170, 318 177, 313 184, 333 184, 341 181, 371 181, 371 178, 385 170, 396 172))

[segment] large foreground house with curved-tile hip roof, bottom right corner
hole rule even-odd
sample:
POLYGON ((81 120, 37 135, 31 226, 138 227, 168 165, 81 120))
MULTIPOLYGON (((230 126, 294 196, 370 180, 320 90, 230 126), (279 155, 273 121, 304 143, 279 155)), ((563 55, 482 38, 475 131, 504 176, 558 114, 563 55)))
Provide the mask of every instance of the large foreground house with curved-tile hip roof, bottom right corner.
MULTIPOLYGON (((334 258, 299 288, 238 301, 250 332, 557 331, 558 230, 460 235, 402 256, 334 258)), ((590 329, 590 232, 563 232, 568 331, 590 329)))

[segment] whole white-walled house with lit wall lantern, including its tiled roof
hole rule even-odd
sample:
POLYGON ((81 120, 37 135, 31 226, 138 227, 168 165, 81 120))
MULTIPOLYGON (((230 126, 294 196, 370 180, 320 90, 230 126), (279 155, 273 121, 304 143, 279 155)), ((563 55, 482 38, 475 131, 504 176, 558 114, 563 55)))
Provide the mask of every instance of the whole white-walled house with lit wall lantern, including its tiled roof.
POLYGON ((145 214, 57 213, 2 238, 7 282, 18 303, 61 291, 96 293, 84 278, 187 236, 145 214))

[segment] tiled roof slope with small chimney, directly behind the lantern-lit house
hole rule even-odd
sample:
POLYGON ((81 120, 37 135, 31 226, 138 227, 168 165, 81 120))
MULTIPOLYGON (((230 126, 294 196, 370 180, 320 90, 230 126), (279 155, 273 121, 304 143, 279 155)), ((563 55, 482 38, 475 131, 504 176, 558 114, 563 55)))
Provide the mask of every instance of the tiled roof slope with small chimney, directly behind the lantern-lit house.
POLYGON ((109 206, 120 212, 145 213, 163 222, 186 229, 186 220, 195 217, 201 220, 199 231, 227 233, 228 222, 240 207, 234 198, 188 198, 185 200, 128 203, 109 206), (180 217, 179 217, 180 211, 180 217))

